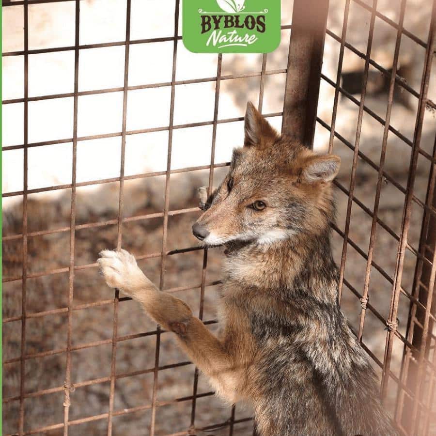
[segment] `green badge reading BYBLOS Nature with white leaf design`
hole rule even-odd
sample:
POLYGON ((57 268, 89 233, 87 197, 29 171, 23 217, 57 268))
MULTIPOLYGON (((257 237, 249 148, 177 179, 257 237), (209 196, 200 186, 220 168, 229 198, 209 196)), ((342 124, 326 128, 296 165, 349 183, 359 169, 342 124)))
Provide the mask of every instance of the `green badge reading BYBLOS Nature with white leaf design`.
POLYGON ((194 53, 269 53, 280 32, 280 0, 183 0, 183 43, 194 53))

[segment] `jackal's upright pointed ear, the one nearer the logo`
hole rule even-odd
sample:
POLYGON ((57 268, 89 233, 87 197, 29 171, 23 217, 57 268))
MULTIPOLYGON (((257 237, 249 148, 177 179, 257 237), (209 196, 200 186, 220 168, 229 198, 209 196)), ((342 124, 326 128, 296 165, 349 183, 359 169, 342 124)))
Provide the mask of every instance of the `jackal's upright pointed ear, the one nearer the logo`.
POLYGON ((247 103, 245 113, 245 142, 246 147, 264 149, 280 138, 277 131, 265 120, 264 116, 253 106, 247 103))

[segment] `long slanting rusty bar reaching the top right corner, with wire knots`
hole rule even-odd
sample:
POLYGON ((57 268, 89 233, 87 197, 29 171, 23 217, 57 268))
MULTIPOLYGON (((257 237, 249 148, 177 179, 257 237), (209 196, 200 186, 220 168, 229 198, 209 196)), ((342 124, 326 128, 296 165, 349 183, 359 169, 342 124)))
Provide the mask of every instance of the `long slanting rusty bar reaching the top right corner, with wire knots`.
POLYGON ((386 397, 387 390, 388 390, 389 377, 387 376, 387 374, 389 374, 390 360, 392 357, 393 333, 397 328, 396 318, 397 318, 397 311, 398 311, 398 301, 400 296, 401 280, 403 276, 405 246, 407 243, 407 236, 410 227, 410 216, 412 212, 411 211, 412 194, 413 194, 413 187, 415 183, 416 169, 418 164, 418 154, 419 154, 418 151, 420 148, 422 125, 423 125, 424 114, 427 106, 428 85, 430 81, 433 52, 435 47, 435 26, 436 26, 435 11, 436 11, 436 0, 433 1, 432 18, 430 22, 428 43, 427 43, 427 49, 425 54, 425 63, 422 72, 420 99, 419 99, 418 113, 417 113, 417 119, 415 125, 415 133, 413 138, 413 148, 412 148, 412 156, 410 159, 409 175, 407 180, 407 191, 406 191, 405 204, 403 210, 401 239, 400 239, 398 253, 397 253, 394 284, 392 287, 392 298, 389 308, 388 333, 386 336, 385 358, 383 363, 383 374, 382 374, 382 385, 381 385, 382 398, 386 397))

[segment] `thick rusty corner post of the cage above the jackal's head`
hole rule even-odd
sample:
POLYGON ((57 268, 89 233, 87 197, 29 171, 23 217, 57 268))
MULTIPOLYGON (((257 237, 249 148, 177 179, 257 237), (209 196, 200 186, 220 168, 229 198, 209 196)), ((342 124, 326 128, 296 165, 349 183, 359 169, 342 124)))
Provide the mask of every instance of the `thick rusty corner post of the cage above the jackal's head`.
POLYGON ((295 0, 282 133, 311 147, 326 37, 328 0, 295 0))

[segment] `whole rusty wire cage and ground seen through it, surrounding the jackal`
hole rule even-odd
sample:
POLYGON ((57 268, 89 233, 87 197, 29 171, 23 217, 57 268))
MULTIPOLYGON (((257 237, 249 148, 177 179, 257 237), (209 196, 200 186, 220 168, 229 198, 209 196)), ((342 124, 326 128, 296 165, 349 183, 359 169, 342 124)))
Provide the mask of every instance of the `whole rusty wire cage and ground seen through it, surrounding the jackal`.
POLYGON ((342 310, 400 433, 435 435, 436 1, 283 0, 264 55, 188 52, 180 8, 3 0, 3 434, 255 434, 95 263, 129 250, 219 327, 190 226, 251 100, 341 156, 342 310))

